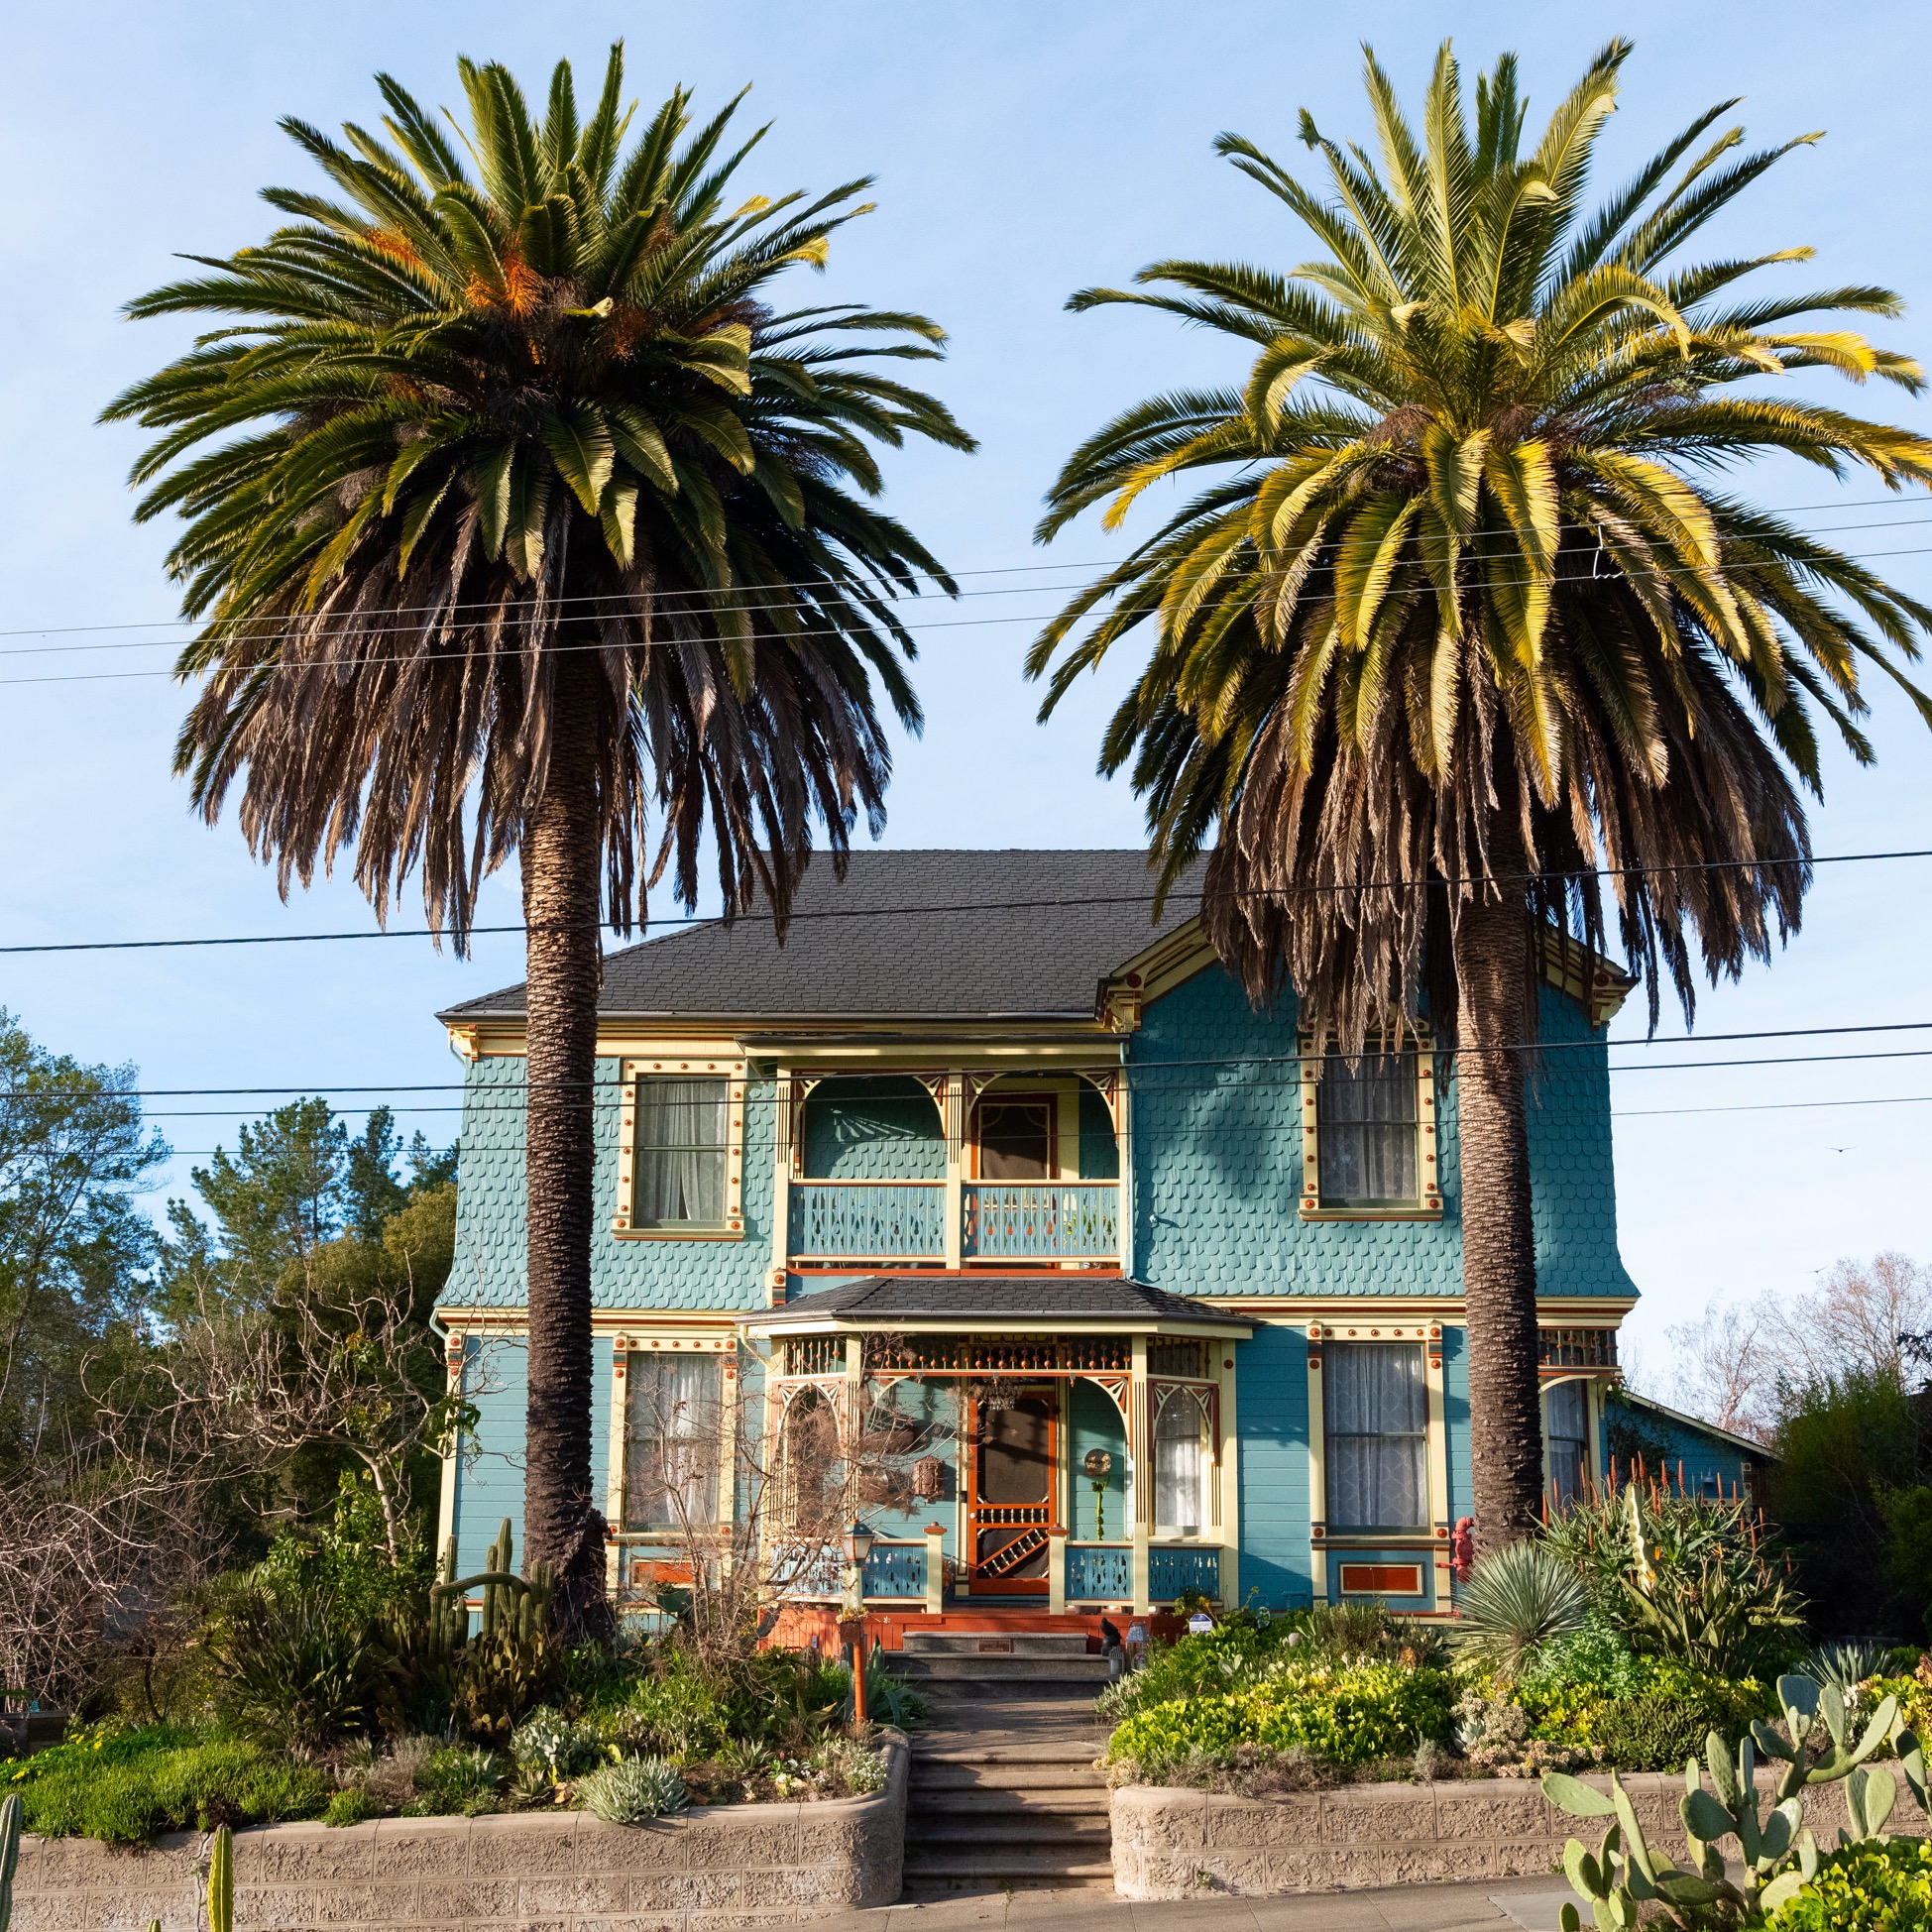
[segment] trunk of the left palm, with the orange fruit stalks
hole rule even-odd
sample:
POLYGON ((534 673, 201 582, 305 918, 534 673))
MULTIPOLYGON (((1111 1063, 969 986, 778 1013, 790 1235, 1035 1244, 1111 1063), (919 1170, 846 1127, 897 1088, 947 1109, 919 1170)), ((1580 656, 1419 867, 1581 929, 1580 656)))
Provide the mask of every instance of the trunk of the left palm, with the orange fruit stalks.
POLYGON ((553 1627, 605 1634, 605 1519, 591 1497, 591 1215, 595 1211, 599 835, 583 668, 556 674, 549 781, 524 835, 527 927, 526 1186, 529 1406, 524 1551, 556 1580, 553 1627))

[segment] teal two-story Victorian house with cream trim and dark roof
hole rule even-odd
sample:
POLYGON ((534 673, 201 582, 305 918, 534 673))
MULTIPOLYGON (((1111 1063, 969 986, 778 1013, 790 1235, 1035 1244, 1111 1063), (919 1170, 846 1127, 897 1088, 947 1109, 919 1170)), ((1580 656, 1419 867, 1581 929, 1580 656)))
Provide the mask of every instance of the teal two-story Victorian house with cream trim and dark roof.
MULTIPOLYGON (((1636 1296, 1604 1043, 1627 981, 1557 935, 1544 968, 1561 1495, 1604 1464, 1636 1296)), ((481 1418, 442 1530, 475 1569, 522 1497, 522 989, 440 1018, 469 1070, 439 1312, 481 1418)), ((889 1627, 1190 1592, 1445 1613, 1470 1513, 1457 1082, 1426 1032, 1383 1045, 1347 1061, 1293 997, 1252 1010, 1184 908, 1150 923, 1138 852, 858 854, 811 871, 782 947, 748 918, 616 952, 593 1273, 614 1584, 676 1573, 672 1517, 723 1532, 742 1507, 713 1432, 775 1441, 800 1403, 891 1389, 925 1434, 867 1511, 889 1627)))

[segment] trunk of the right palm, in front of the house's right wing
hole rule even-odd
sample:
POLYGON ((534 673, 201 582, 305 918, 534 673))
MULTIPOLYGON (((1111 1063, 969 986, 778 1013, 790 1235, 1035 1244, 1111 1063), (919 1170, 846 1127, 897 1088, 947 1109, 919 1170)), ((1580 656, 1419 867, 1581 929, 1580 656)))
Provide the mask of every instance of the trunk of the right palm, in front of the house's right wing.
MULTIPOLYGON (((1520 844, 1495 838, 1490 866, 1520 875, 1520 844)), ((1499 898, 1466 904, 1453 951, 1476 1542, 1497 1549, 1536 1528, 1544 1501, 1536 1233, 1520 1051, 1532 1037, 1536 985, 1520 883, 1511 879, 1499 898)))

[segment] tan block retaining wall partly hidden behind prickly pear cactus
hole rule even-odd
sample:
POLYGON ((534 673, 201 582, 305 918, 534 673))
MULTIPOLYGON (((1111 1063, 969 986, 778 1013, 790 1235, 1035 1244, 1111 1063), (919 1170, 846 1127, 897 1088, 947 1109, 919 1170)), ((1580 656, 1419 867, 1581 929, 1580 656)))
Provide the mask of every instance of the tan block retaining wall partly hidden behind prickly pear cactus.
MULTIPOLYGON (((1592 1777, 1607 1789, 1607 1779, 1592 1777)), ((1758 1774, 1758 1791, 1770 1779, 1758 1774)), ((1667 1859, 1685 1853, 1681 1776, 1623 1779, 1644 1835, 1667 1859)), ((1770 1808, 1768 1797, 1760 1799, 1770 1808)), ((1762 1812, 1760 1812, 1762 1814, 1762 1812)), ((1824 1847, 1845 1824, 1843 1785, 1814 1785, 1804 1822, 1824 1847)), ((1926 1835, 1901 1791, 1893 1832, 1926 1835)), ((1122 1785, 1113 1793, 1113 1884, 1126 1899, 1188 1899, 1208 1891, 1352 1891, 1455 1878, 1536 1878, 1557 1870, 1563 1841, 1594 1845, 1596 1818, 1559 1812, 1532 1781, 1341 1785, 1281 1799, 1122 1785)))

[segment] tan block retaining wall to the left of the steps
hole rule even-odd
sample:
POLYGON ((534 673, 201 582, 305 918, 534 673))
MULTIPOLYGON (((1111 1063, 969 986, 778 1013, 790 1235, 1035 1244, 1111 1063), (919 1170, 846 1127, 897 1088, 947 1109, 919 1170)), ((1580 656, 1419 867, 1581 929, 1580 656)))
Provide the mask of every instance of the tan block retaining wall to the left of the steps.
MULTIPOLYGON (((898 1897, 906 1743, 885 1791, 605 1824, 583 1812, 383 1818, 236 1832, 240 1932, 709 1932, 794 1924, 898 1897)), ((21 1845, 14 1932, 197 1932, 197 1833, 149 1851, 21 1845)))

